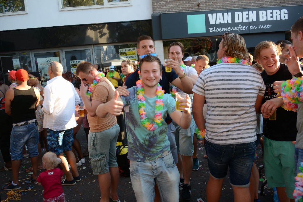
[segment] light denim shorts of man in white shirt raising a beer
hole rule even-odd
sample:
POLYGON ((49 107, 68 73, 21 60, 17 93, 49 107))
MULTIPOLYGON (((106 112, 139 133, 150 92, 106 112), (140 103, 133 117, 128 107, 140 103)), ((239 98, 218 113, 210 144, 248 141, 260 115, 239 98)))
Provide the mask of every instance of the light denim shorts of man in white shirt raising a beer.
POLYGON ((175 122, 173 123, 176 127, 175 138, 178 154, 181 154, 182 156, 192 156, 194 153, 194 131, 196 129, 194 118, 191 115, 191 124, 188 129, 183 129, 175 122))

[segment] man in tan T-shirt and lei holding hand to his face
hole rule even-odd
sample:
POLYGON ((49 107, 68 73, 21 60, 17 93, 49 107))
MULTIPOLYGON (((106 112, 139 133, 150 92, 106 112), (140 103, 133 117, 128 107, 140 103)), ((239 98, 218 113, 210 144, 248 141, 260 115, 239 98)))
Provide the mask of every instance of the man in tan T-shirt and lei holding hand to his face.
POLYGON ((114 115, 109 114, 105 118, 96 116, 98 105, 114 98, 115 88, 89 62, 79 63, 76 75, 81 79, 80 94, 88 111, 88 152, 93 174, 98 175, 102 201, 109 198, 118 201, 119 168, 115 151, 120 127, 114 115))

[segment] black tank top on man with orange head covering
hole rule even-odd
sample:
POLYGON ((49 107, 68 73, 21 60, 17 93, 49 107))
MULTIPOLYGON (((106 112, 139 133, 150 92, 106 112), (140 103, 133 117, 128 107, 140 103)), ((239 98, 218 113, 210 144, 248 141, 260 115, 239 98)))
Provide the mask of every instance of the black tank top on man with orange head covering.
POLYGON ((38 101, 34 88, 19 90, 13 88, 15 96, 12 100, 13 123, 36 119, 35 105, 38 101))

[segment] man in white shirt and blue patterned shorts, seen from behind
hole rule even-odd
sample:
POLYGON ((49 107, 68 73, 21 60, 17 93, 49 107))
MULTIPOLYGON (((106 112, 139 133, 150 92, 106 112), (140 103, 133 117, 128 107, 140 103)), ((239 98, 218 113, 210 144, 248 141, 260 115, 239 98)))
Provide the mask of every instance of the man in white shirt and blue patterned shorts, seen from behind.
POLYGON ((81 181, 76 158, 72 152, 73 128, 77 126, 75 105, 80 103, 80 98, 72 83, 62 78, 62 71, 62 65, 56 61, 52 61, 48 67, 50 80, 44 88, 43 127, 47 128, 48 150, 54 152, 64 164, 62 171, 66 178, 61 181, 61 184, 74 185, 81 181), (68 163, 73 174, 68 168, 68 163))

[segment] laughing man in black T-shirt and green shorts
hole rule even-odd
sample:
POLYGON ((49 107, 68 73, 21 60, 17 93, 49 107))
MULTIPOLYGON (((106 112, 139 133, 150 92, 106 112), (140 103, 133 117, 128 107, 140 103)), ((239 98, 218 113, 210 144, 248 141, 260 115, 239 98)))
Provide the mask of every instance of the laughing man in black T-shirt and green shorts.
POLYGON ((272 41, 262 41, 255 47, 255 60, 265 71, 261 76, 265 83, 262 101, 264 129, 264 165, 268 187, 277 187, 280 201, 294 201, 295 145, 297 113, 281 108, 283 99, 274 92, 274 81, 291 79, 287 66, 279 62, 281 47, 272 41), (268 118, 276 110, 276 120, 268 118), (287 126, 287 127, 281 127, 287 126))

